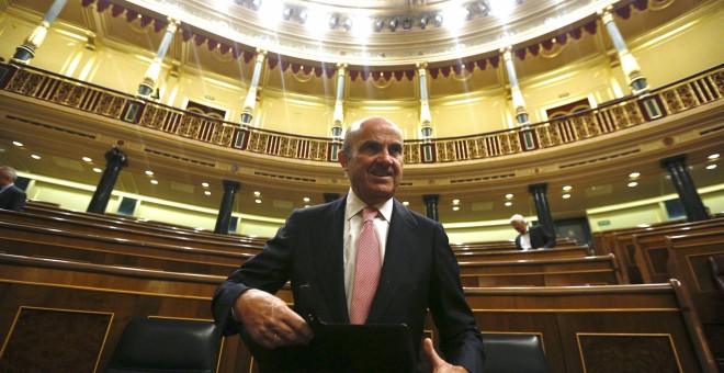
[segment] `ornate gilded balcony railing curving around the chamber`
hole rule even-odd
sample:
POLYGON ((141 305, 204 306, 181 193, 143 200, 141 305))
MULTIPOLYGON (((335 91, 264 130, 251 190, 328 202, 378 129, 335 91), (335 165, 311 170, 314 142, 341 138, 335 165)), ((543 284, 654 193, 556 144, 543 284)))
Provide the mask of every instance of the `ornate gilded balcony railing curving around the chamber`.
MULTIPOLYGON (((0 65, 0 89, 167 134, 268 156, 336 161, 330 138, 244 127, 23 65, 0 65)), ((493 133, 405 142, 406 163, 456 162, 551 148, 691 110, 724 95, 724 65, 596 109, 493 133)))

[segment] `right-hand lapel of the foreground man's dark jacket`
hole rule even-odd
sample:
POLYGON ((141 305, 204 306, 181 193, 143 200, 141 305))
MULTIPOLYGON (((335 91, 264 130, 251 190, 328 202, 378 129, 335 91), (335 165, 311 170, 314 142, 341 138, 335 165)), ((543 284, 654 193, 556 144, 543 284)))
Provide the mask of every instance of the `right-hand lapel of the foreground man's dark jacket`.
POLYGON ((419 247, 416 227, 417 224, 407 207, 395 200, 385 246, 385 261, 367 323, 382 321, 381 318, 389 302, 395 298, 404 276, 409 273, 407 269, 412 265, 415 248, 419 247))

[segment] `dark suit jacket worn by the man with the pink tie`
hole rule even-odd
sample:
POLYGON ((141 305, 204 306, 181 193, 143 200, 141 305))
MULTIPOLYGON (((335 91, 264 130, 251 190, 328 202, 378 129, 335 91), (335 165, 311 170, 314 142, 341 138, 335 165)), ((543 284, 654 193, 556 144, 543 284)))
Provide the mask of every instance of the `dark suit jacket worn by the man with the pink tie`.
MULTIPOLYGON (((347 197, 294 211, 264 250, 218 286, 212 310, 224 335, 242 331, 230 314, 239 294, 247 289, 273 294, 287 280, 297 314, 349 324, 342 258, 346 203, 347 197)), ((428 308, 439 330, 443 358, 480 372, 482 337, 465 302, 448 236, 440 223, 395 200, 380 285, 366 323, 406 324, 412 331, 415 351, 419 351, 428 308)))

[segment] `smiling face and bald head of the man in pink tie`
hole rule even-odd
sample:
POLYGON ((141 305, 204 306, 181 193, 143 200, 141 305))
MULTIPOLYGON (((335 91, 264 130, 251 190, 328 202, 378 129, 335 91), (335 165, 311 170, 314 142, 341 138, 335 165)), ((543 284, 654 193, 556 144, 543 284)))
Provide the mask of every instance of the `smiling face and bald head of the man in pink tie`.
POLYGON ((353 135, 350 157, 339 162, 350 177, 352 191, 374 205, 395 195, 403 179, 403 135, 384 118, 371 118, 353 135))

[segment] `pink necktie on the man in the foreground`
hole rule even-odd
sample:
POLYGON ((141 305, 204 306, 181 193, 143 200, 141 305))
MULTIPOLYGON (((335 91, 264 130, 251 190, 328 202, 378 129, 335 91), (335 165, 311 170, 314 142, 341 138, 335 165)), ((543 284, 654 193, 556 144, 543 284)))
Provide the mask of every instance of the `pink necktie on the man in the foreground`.
POLYGON ((350 323, 364 324, 370 314, 370 306, 377 291, 380 281, 380 238, 374 227, 377 208, 366 206, 363 210, 364 225, 357 244, 354 285, 352 287, 352 304, 350 306, 350 323))

